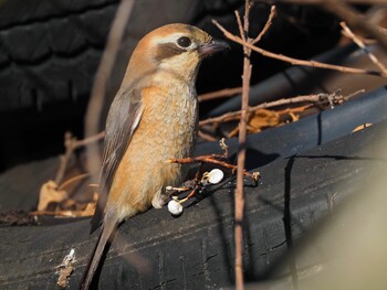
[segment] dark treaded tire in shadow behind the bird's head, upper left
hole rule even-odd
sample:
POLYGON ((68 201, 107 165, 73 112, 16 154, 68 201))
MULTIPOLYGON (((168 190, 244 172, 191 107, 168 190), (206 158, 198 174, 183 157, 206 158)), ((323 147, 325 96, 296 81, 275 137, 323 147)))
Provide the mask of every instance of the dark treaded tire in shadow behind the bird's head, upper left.
MULTIPOLYGON (((118 0, 4 0, 0 4, 0 111, 87 98, 118 0)), ((211 12, 231 14, 233 0, 136 2, 122 44, 112 92, 148 31, 170 22, 207 26, 211 12)), ((211 28, 212 31, 216 29, 211 28)), ((113 78, 114 78, 113 77, 113 78)), ((112 78, 112 76, 111 76, 112 78)), ((213 80, 212 80, 213 82, 213 80)), ((109 90, 109 89, 108 89, 109 90)), ((109 94, 111 93, 111 94, 109 94)))

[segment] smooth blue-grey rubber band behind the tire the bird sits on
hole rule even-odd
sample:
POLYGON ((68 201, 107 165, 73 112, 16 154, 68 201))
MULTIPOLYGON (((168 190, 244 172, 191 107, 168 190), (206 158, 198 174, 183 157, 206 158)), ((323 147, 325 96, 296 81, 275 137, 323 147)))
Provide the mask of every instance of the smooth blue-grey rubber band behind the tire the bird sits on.
MULTIPOLYGON (((327 109, 302 118, 286 126, 271 128, 247 137, 249 158, 244 167, 250 170, 262 167, 280 158, 300 153, 307 149, 349 135, 364 123, 377 123, 387 119, 387 88, 359 95, 334 109, 327 109)), ((237 159, 238 138, 227 140, 229 155, 237 159)), ((203 142, 196 154, 221 153, 218 142, 203 142)))

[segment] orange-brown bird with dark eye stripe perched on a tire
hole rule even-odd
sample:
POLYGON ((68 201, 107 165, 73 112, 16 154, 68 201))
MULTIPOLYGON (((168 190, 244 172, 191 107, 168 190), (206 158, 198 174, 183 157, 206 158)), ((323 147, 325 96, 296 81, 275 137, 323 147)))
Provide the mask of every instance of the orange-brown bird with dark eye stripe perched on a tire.
POLYGON ((100 237, 81 279, 90 289, 106 245, 127 218, 160 208, 187 173, 167 163, 192 153, 198 131, 196 79, 203 58, 226 49, 199 28, 174 23, 138 43, 107 114, 92 233, 100 237))

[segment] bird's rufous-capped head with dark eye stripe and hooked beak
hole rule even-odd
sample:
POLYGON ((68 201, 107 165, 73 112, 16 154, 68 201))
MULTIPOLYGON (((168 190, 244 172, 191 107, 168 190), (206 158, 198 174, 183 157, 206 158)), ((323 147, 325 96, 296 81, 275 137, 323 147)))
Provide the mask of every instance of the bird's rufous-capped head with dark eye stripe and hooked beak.
POLYGON ((126 77, 138 79, 155 72, 195 82, 200 62, 229 49, 205 31, 188 24, 168 24, 145 35, 130 57, 126 77))

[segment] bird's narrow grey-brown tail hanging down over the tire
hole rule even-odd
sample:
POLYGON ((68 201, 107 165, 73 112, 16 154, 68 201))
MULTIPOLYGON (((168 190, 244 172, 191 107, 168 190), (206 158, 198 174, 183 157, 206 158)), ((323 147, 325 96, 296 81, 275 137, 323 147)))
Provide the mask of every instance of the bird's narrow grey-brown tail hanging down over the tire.
POLYGON ((109 238, 113 236, 114 232, 117 228, 117 223, 114 221, 104 221, 104 224, 101 228, 101 234, 97 243, 93 249, 93 253, 88 259, 85 271, 80 283, 80 290, 88 290, 93 281, 94 275, 100 266, 101 258, 104 254, 105 247, 109 241, 109 238))

